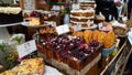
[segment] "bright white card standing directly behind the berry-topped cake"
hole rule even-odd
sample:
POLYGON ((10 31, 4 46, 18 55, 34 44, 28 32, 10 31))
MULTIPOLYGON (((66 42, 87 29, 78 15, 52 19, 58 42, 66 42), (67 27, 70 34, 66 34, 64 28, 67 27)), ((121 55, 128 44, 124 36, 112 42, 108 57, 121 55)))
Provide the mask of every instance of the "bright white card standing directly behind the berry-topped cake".
POLYGON ((58 35, 69 32, 68 24, 56 26, 56 31, 57 31, 58 35))

